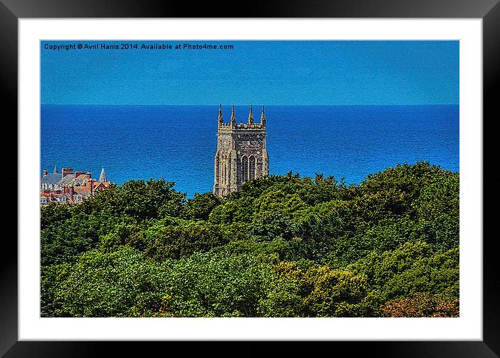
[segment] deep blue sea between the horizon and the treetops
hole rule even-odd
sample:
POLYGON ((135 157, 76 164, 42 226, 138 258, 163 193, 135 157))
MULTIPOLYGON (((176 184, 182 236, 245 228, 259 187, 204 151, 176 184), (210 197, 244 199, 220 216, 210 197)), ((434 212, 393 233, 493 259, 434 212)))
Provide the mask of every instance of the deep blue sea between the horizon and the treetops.
MULTIPOLYGON (((212 191, 219 106, 42 105, 41 171, 89 170, 108 180, 175 181, 212 191)), ((237 121, 249 108, 236 106, 237 121)), ((260 119, 260 107, 254 106, 260 119)), ((458 105, 267 106, 270 173, 316 173, 360 183, 398 163, 428 161, 459 171, 458 105)), ((226 122, 230 106, 223 106, 226 122)))

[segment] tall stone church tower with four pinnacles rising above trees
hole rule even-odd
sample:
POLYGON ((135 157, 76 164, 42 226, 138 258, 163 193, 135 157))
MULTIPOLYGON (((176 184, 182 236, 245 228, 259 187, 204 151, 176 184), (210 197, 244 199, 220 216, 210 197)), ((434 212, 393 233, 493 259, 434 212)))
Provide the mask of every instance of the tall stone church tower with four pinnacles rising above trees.
POLYGON ((237 191, 245 181, 269 175, 266 134, 264 106, 260 123, 253 122, 250 105, 248 124, 237 124, 235 106, 233 105, 230 122, 224 123, 222 106, 219 105, 214 195, 226 196, 237 191))

